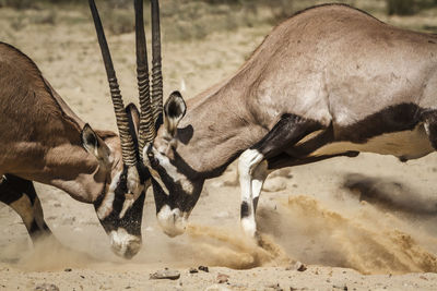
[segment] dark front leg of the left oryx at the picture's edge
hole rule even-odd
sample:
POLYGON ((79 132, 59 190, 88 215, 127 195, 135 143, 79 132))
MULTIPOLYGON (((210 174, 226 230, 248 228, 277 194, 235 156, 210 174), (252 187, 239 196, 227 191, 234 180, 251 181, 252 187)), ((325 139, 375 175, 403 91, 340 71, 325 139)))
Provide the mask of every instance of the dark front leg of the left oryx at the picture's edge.
POLYGON ((51 235, 32 181, 7 174, 0 183, 0 202, 21 216, 34 243, 43 235, 51 235))

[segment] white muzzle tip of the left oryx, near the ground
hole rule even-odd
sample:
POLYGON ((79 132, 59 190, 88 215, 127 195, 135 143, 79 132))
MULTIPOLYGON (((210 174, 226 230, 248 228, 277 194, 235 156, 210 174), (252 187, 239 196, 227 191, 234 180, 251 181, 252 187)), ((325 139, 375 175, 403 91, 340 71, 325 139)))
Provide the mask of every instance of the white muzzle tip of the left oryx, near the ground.
POLYGON ((109 233, 109 240, 113 251, 122 257, 131 257, 141 248, 141 239, 129 234, 123 228, 113 230, 109 233))

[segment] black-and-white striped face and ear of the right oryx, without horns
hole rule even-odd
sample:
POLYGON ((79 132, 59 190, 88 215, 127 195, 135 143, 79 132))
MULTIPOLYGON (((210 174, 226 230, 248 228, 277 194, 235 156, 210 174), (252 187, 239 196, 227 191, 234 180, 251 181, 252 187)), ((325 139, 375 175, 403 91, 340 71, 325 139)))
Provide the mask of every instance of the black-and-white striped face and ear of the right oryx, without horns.
POLYGON ((186 113, 182 96, 174 92, 164 106, 164 125, 144 147, 143 161, 153 177, 156 217, 169 237, 181 234, 199 199, 204 179, 178 155, 177 125, 186 113))

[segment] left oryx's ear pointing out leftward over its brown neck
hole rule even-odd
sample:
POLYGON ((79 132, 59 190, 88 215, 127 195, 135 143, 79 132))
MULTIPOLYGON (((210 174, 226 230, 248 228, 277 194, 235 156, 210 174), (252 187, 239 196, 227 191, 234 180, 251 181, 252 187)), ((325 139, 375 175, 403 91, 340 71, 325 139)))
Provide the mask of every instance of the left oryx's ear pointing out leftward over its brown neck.
POLYGON ((90 124, 85 124, 81 132, 82 146, 97 160, 104 165, 109 165, 110 149, 105 142, 93 131, 90 124))

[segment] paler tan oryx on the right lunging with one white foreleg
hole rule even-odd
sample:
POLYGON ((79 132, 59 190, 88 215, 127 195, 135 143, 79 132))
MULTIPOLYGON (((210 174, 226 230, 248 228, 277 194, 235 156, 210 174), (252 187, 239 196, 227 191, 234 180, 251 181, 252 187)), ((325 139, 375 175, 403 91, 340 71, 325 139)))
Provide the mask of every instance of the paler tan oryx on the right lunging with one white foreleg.
POLYGON ((241 223, 272 170, 359 151, 400 160, 437 149, 437 36, 385 24, 342 4, 275 27, 233 76, 187 105, 173 93, 144 149, 167 194, 169 235, 184 231, 205 179, 239 157, 241 223))

